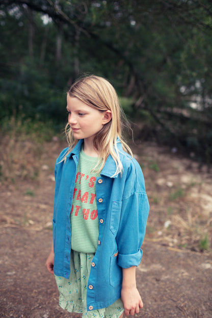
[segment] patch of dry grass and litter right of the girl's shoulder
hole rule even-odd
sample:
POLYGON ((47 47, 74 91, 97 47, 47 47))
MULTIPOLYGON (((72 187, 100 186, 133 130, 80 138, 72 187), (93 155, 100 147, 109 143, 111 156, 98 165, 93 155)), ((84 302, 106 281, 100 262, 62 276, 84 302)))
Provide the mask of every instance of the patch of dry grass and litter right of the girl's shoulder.
POLYGON ((155 144, 140 145, 134 152, 143 167, 150 201, 146 240, 210 251, 212 175, 207 167, 199 171, 197 163, 155 144))

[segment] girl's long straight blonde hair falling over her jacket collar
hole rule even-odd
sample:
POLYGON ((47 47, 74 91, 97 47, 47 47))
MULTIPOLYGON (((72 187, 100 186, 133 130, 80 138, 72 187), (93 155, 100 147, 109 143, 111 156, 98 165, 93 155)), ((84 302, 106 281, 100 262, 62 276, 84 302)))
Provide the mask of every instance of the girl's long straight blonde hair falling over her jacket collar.
MULTIPOLYGON (((122 137, 122 127, 129 126, 129 124, 120 107, 119 99, 114 87, 103 77, 90 75, 77 80, 70 87, 67 94, 71 97, 80 99, 96 110, 110 110, 112 112, 112 119, 107 124, 103 125, 102 129, 94 138, 94 147, 100 154, 96 167, 98 166, 97 171, 100 172, 108 156, 111 154, 116 163, 116 173, 114 175, 122 173, 123 166, 117 148, 117 137, 120 139, 123 149, 131 156, 133 156, 133 153, 122 137)), ((65 132, 69 144, 69 149, 66 153, 67 156, 77 144, 78 140, 74 139, 72 129, 68 123, 65 127, 65 132)))

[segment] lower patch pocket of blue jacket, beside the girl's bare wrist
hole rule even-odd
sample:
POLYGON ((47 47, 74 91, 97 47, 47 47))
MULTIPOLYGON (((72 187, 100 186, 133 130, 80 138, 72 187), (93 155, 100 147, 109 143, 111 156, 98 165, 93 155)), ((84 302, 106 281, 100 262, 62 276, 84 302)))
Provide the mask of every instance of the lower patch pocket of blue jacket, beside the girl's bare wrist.
POLYGON ((121 284, 122 281, 122 269, 118 266, 118 251, 113 253, 110 260, 110 285, 115 287, 121 284))

